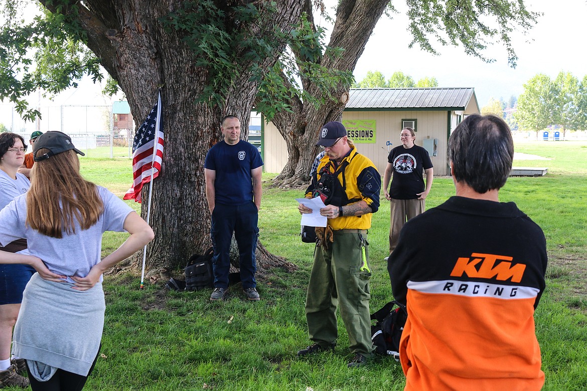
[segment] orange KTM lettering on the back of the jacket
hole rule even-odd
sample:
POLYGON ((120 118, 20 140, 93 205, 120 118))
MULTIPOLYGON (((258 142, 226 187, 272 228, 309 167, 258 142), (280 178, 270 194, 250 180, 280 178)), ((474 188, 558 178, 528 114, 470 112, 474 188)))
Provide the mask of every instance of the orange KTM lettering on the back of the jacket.
POLYGON ((526 265, 518 263, 512 266, 512 259, 512 257, 501 255, 473 253, 471 258, 460 257, 457 259, 450 275, 463 277, 463 274, 467 274, 471 278, 495 278, 499 281, 511 278, 512 283, 519 283, 524 276, 526 265))

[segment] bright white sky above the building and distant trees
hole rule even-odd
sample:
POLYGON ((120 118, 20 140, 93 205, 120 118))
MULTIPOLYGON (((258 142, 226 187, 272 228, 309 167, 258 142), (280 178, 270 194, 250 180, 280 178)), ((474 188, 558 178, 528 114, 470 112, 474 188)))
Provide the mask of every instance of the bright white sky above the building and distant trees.
POLYGON ((518 55, 515 69, 508 66, 507 52, 500 44, 487 50, 487 56, 496 60, 490 64, 465 55, 463 47, 433 45, 440 56, 430 55, 416 46, 409 49, 411 35, 407 30, 405 2, 394 2, 400 13, 394 14, 393 20, 384 16, 377 23, 355 68, 355 79, 363 79, 369 70, 379 70, 386 79, 397 70, 415 81, 436 77, 440 87, 474 87, 480 107, 491 97, 507 100, 511 95, 518 96, 524 91, 523 84, 538 73, 554 79, 564 70, 581 80, 587 73, 587 1, 527 0, 525 4, 529 11, 544 15, 527 36, 521 33, 512 36, 518 55), (533 41, 527 42, 529 39, 533 41))

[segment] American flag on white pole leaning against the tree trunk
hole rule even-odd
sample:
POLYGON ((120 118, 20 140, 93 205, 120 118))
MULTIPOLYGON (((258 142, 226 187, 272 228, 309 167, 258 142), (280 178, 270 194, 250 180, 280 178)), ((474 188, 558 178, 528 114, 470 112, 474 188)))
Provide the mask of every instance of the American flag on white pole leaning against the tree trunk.
POLYGON ((151 179, 157 178, 163 159, 163 123, 161 121, 161 93, 157 103, 134 135, 133 140, 133 186, 124 199, 141 202, 141 189, 151 179))

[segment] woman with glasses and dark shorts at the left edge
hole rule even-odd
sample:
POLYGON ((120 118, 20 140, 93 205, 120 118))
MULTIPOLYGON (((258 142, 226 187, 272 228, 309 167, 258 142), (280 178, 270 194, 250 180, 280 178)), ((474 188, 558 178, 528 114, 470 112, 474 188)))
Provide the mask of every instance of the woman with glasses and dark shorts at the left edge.
MULTIPOLYGON (((15 133, 0 133, 0 210, 28 191, 31 182, 19 174, 25 161, 25 140, 15 133)), ((18 253, 25 250, 26 239, 16 238, 2 243, 0 250, 18 253)), ((26 264, 0 264, 0 388, 26 387, 29 380, 19 375, 26 372, 23 359, 10 356, 12 328, 21 308, 22 292, 35 269, 26 264)))

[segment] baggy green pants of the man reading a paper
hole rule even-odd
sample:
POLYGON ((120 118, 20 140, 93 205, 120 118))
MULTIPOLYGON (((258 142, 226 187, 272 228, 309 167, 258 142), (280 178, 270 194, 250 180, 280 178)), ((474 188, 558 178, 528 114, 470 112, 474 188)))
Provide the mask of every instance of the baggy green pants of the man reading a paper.
MULTIPOLYGON (((367 240, 367 234, 363 234, 367 240)), ((366 246, 367 265, 369 247, 366 246)), ((334 232, 330 248, 318 247, 306 297, 306 320, 311 341, 322 346, 338 337, 336 307, 345 323, 352 353, 370 357, 373 352, 369 312, 369 278, 362 271, 362 251, 357 232, 334 232)))

